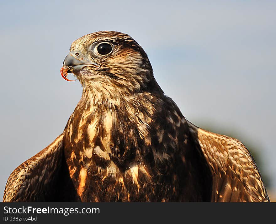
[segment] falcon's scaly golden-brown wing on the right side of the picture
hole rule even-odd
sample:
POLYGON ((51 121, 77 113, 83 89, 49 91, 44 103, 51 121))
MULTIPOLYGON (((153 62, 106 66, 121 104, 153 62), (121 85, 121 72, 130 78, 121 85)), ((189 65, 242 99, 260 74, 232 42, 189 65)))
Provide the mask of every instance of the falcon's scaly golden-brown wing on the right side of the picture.
POLYGON ((258 167, 239 140, 188 125, 212 174, 212 202, 269 202, 258 167))

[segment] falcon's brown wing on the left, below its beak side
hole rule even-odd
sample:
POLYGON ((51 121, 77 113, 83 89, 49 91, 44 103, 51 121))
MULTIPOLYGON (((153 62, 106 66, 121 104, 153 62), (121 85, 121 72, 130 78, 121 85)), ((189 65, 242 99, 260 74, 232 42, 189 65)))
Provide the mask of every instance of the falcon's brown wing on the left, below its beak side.
POLYGON ((62 165, 62 139, 63 134, 11 173, 3 202, 54 201, 56 176, 62 165))

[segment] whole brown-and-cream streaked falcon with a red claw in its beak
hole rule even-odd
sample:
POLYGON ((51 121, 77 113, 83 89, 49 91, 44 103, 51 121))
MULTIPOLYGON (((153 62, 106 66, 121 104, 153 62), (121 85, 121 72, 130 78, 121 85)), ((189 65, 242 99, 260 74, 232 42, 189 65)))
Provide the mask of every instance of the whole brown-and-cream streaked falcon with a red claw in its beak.
POLYGON ((66 71, 82 97, 63 133, 11 173, 4 202, 269 202, 247 148, 189 122, 129 35, 80 37, 66 71))

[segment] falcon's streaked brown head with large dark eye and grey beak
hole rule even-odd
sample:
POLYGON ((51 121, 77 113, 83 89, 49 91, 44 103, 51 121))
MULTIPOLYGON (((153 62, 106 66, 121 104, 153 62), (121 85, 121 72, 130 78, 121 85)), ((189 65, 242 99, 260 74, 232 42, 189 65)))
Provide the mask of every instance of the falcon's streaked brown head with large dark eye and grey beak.
POLYGON ((143 48, 121 32, 95 32, 75 40, 63 67, 69 67, 85 92, 94 97, 161 90, 143 48))

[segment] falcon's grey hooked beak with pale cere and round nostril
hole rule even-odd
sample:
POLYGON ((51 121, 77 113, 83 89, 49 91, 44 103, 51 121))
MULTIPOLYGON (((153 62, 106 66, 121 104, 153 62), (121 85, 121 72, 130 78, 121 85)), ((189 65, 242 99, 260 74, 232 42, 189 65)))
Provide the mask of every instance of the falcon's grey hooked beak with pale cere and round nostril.
POLYGON ((100 65, 98 65, 93 61, 89 61, 81 58, 79 53, 77 56, 76 53, 78 52, 73 52, 73 51, 69 52, 69 54, 65 57, 63 61, 63 67, 65 66, 72 67, 72 70, 67 71, 68 73, 77 73, 87 66, 96 67, 96 68, 100 67, 100 65))

